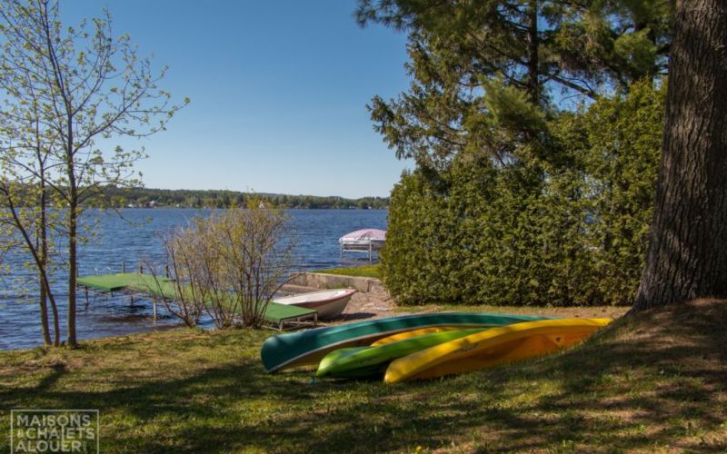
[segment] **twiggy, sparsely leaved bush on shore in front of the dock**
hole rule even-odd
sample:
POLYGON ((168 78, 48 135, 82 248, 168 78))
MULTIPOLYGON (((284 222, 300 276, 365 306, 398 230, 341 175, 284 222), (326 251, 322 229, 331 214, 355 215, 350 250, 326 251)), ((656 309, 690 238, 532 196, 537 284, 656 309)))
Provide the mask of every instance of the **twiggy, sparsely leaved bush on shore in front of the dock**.
POLYGON ((287 220, 251 200, 246 209, 213 212, 172 232, 164 242, 174 286, 167 309, 190 326, 203 311, 217 328, 260 326, 294 267, 287 220))

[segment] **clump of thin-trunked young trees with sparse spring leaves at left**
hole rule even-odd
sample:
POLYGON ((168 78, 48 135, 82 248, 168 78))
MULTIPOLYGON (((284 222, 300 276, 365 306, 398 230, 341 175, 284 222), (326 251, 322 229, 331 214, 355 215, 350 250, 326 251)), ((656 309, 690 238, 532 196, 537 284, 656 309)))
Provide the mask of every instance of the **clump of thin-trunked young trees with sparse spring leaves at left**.
MULTIPOLYGON (((134 163, 144 158, 143 148, 100 145, 164 131, 189 100, 173 104, 171 94, 158 86, 166 69, 155 71, 127 35, 114 35, 108 11, 77 28, 61 19, 54 0, 0 5, 0 223, 24 238, 22 248, 38 271, 45 343, 50 343, 46 297, 55 311, 46 272, 55 260, 48 235, 64 237, 67 343, 75 347, 77 245, 86 238, 78 218, 85 202, 105 186, 140 184, 134 163), (24 219, 17 212, 23 206, 37 206, 41 215, 24 219), (62 215, 46 217, 48 209, 62 215)), ((55 313, 54 318, 57 344, 55 313)))

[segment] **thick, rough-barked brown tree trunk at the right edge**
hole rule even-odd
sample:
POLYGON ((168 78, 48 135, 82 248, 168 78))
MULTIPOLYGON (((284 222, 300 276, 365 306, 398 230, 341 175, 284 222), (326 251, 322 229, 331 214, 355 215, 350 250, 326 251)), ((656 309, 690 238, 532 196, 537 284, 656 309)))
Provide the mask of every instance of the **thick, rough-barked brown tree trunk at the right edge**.
POLYGON ((680 0, 649 252, 632 311, 727 296, 727 1, 680 0))

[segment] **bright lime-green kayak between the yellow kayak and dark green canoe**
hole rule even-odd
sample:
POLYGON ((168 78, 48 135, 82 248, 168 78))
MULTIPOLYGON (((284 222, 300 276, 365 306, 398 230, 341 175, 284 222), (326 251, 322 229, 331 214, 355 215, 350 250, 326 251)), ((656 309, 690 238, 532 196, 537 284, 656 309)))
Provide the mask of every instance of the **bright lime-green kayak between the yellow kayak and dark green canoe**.
POLYGON ((386 343, 380 347, 351 347, 334 350, 321 360, 315 375, 336 379, 383 376, 389 363, 397 358, 483 330, 488 330, 488 328, 434 332, 403 341, 386 343))

